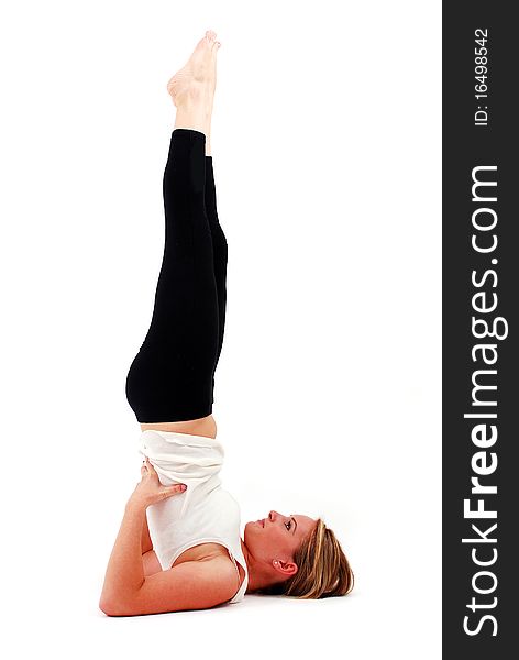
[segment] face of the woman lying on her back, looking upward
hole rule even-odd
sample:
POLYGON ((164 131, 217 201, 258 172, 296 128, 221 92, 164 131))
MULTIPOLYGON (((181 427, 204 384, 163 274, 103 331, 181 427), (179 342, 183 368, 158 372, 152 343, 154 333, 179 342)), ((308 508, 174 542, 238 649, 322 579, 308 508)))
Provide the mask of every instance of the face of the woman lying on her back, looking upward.
POLYGON ((257 561, 294 561, 294 553, 309 535, 317 520, 291 514, 284 516, 272 510, 266 518, 245 525, 244 543, 257 561))

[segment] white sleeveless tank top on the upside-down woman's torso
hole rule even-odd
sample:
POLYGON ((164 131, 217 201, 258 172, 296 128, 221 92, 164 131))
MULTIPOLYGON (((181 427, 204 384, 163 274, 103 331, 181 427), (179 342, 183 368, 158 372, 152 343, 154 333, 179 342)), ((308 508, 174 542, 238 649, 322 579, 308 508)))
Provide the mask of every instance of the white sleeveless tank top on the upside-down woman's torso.
POLYGON ((150 459, 164 486, 187 485, 146 509, 150 538, 163 571, 188 548, 199 543, 220 543, 227 548, 245 578, 230 603, 243 601, 249 571, 240 540, 240 506, 221 487, 223 446, 214 438, 146 430, 139 438, 139 452, 150 459))

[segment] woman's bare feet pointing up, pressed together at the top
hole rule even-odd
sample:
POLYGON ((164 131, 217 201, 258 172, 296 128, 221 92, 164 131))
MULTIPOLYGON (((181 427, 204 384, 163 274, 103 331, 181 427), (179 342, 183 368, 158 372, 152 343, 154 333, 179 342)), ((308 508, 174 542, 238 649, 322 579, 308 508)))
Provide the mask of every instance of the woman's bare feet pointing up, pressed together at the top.
POLYGON ((178 108, 180 103, 203 94, 212 101, 217 85, 217 34, 208 30, 198 42, 187 64, 168 81, 167 91, 178 108))

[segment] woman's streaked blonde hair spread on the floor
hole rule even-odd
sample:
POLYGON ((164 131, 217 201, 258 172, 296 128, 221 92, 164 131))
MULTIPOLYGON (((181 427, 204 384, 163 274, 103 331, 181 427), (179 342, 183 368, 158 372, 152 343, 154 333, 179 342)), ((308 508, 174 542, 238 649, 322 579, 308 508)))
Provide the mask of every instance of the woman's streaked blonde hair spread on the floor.
POLYGON ((294 553, 297 573, 257 591, 260 594, 329 598, 345 596, 354 585, 354 575, 335 535, 318 518, 313 530, 294 553))

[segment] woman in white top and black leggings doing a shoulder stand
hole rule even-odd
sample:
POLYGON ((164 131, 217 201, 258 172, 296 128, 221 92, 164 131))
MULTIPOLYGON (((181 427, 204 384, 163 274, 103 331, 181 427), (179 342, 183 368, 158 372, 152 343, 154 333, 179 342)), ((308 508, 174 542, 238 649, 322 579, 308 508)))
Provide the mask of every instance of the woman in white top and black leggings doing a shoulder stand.
POLYGON ((212 417, 225 322, 228 245, 210 147, 220 43, 208 31, 168 82, 177 108, 163 193, 166 234, 152 322, 126 378, 141 425, 142 479, 130 497, 99 606, 109 616, 209 608, 245 593, 339 596, 353 573, 321 519, 245 525, 221 487, 212 417))

